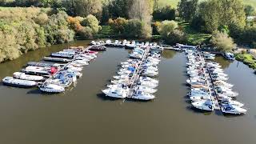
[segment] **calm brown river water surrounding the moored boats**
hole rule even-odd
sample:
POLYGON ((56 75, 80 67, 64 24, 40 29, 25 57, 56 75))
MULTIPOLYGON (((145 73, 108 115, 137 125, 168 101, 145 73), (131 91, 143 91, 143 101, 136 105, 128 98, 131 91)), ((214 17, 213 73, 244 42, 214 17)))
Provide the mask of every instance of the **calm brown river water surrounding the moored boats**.
MULTIPOLYGON (((70 43, 84 46, 88 41, 70 43)), ((0 64, 0 78, 12 75, 29 61, 39 61, 66 45, 51 46, 0 64)), ((166 50, 159 65, 158 92, 152 102, 104 98, 101 90, 125 61, 128 51, 110 48, 86 66, 77 86, 64 94, 41 94, 0 84, 0 143, 2 144, 253 144, 256 142, 256 75, 241 62, 222 64, 238 101, 248 113, 225 116, 220 111, 191 109, 185 97, 186 56, 166 50)))

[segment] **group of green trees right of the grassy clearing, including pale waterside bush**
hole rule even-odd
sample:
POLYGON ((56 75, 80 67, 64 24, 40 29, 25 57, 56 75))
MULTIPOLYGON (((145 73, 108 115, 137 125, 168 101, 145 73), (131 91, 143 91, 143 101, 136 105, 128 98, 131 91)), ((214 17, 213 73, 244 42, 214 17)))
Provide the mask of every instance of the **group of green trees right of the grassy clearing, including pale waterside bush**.
POLYGON ((178 14, 199 32, 212 34, 212 42, 222 50, 234 48, 234 42, 256 47, 256 15, 254 7, 244 6, 241 0, 181 0, 178 14))

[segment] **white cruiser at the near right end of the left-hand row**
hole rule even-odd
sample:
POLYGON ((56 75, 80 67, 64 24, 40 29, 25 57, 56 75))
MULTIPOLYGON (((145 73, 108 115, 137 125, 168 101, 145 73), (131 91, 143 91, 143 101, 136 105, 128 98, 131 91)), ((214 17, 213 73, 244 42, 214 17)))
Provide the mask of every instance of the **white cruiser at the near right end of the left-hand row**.
POLYGON ((58 86, 50 83, 44 83, 42 86, 39 86, 39 89, 46 93, 62 93, 65 91, 63 86, 58 86))

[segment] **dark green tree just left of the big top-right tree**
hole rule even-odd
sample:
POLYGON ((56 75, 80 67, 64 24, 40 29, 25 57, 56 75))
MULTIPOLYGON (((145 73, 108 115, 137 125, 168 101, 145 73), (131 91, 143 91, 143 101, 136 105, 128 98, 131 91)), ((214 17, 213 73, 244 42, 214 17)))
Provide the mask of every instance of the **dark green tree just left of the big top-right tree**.
POLYGON ((198 0, 181 0, 178 2, 178 14, 187 22, 190 22, 197 11, 198 0))

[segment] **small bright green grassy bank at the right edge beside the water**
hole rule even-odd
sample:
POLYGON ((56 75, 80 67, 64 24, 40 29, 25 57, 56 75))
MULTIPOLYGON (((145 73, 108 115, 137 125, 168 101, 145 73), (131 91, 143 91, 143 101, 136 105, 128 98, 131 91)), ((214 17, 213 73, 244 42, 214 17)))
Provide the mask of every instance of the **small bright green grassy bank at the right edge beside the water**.
POLYGON ((256 70, 256 59, 251 54, 236 54, 236 59, 256 70))

